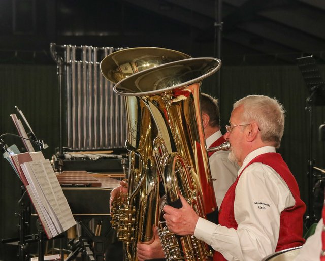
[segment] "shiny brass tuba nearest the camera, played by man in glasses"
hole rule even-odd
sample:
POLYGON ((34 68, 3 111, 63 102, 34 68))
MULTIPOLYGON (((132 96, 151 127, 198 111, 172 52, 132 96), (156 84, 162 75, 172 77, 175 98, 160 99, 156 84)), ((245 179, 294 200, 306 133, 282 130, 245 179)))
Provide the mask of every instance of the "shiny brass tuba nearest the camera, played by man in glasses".
MULTIPOLYGON (((205 148, 200 88, 201 81, 220 67, 221 61, 216 58, 188 58, 130 75, 114 86, 119 95, 138 97, 150 112, 150 126, 157 129, 152 144, 155 164, 150 157, 150 166, 155 166, 160 175, 166 204, 181 207, 178 195, 182 194, 203 218, 214 213, 217 205, 205 148)), ((159 184, 157 179, 155 184, 159 184)), ((137 229, 141 226, 136 225, 137 229)), ((193 236, 177 236, 164 222, 159 222, 158 234, 168 260, 212 259, 204 242, 193 236)))

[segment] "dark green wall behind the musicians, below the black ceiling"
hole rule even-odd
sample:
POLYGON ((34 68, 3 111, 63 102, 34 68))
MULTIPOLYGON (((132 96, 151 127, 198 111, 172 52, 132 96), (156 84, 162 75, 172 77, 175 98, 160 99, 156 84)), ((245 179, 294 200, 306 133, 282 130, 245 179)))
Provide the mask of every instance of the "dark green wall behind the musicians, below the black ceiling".
MULTIPOLYGON (((324 67, 320 67, 324 71, 324 67)), ((305 110, 308 91, 297 66, 224 66, 221 69, 222 126, 228 123, 234 101, 248 94, 276 97, 286 109, 286 123, 279 152, 294 173, 302 198, 308 202, 307 160, 309 159, 309 113, 305 110)), ((58 87, 54 65, 0 64, 1 128, 0 133, 16 133, 9 114, 14 106, 23 111, 39 139, 49 148, 44 151, 51 158, 58 146, 58 87)), ((216 77, 204 80, 202 91, 216 96, 216 77)), ((313 158, 315 166, 324 167, 324 143, 318 141, 318 126, 324 123, 324 108, 313 108, 313 158)), ((224 128, 223 128, 224 132, 224 128)), ((118 134, 117 134, 118 135, 118 134)), ((8 145, 19 139, 3 137, 8 145)), ((252 184, 253 189, 253 184, 252 184)), ((18 236, 20 182, 6 160, 0 161, 0 238, 18 236)), ((0 244, 0 259, 13 260, 16 247, 0 244)))

